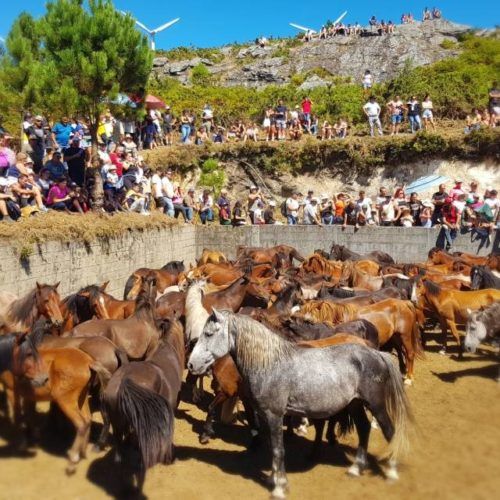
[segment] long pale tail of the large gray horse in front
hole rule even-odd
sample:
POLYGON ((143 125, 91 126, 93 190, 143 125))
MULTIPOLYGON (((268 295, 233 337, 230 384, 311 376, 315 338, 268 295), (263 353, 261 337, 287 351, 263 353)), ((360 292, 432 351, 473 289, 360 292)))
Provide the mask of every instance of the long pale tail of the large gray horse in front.
POLYGON ((394 426, 394 435, 389 447, 391 455, 397 458, 409 450, 409 432, 414 418, 399 369, 392 362, 390 354, 386 352, 379 354, 389 375, 385 385, 385 407, 394 426))

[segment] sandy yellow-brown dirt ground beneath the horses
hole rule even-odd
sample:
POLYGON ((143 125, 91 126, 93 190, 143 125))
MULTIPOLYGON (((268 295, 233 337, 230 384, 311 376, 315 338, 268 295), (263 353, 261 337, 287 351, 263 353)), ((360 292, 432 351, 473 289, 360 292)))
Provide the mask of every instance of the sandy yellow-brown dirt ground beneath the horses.
MULTIPOLYGON (((400 467, 400 481, 389 484, 376 466, 385 445, 373 430, 369 451, 371 468, 363 477, 346 475, 355 451, 355 436, 336 449, 324 444, 316 464, 307 459, 313 429, 307 440, 293 436, 286 442, 290 499, 431 498, 493 499, 500 488, 500 384, 491 350, 466 355, 463 361, 437 354, 428 344, 426 359, 416 364, 416 382, 407 389, 418 423, 411 454, 400 467)), ((206 384, 208 385, 208 384, 206 384)), ((208 396, 208 395, 207 395, 208 396)), ((181 403, 177 413, 177 461, 150 470, 144 489, 148 498, 265 499, 265 450, 247 452, 247 430, 241 425, 217 427, 218 438, 198 443, 204 413, 181 403)), ((98 425, 96 425, 97 431, 98 425)), ((95 434, 95 433, 94 433, 95 434)), ((41 448, 20 456, 5 441, 12 430, 0 421, 1 499, 101 499, 118 497, 120 473, 111 454, 89 450, 72 477, 66 477, 67 442, 45 434, 41 448)))

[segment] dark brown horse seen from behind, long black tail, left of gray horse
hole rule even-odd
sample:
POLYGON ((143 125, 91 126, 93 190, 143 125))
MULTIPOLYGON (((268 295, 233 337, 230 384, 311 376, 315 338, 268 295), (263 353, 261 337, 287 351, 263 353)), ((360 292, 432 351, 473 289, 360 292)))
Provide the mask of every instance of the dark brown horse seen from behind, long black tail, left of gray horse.
POLYGON ((145 361, 120 367, 104 391, 105 412, 113 428, 115 462, 126 467, 122 476, 125 480, 135 476, 139 492, 147 469, 174 459, 174 411, 184 356, 184 330, 174 320, 156 352, 145 361))

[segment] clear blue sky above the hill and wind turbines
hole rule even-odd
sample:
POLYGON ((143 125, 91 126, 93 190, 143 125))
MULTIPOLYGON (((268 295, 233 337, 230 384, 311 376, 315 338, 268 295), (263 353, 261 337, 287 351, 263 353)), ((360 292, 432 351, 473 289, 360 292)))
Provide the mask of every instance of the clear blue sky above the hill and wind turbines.
MULTIPOLYGON (((2 1, 0 36, 5 37, 14 19, 23 10, 34 16, 45 10, 45 0, 2 1)), ((367 0, 332 2, 331 0, 115 0, 119 9, 132 12, 150 28, 180 17, 181 21, 157 36, 158 48, 180 45, 211 47, 234 41, 253 40, 261 35, 291 36, 295 30, 288 26, 295 22, 311 28, 321 26, 327 19, 335 19, 348 11, 346 22, 366 24, 374 14, 378 18, 399 22, 401 13, 413 12, 420 18, 423 8, 434 4, 425 0, 380 1, 367 0)), ((444 17, 475 27, 493 27, 500 24, 496 18, 493 0, 441 0, 436 5, 444 17)), ((500 17, 500 16, 499 16, 500 17)))

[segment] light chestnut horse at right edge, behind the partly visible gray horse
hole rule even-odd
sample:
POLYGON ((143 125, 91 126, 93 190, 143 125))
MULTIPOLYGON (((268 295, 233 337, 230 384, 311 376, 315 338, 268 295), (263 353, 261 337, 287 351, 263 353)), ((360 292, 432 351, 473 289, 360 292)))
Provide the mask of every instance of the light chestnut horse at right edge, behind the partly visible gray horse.
POLYGON ((422 279, 414 291, 413 302, 418 304, 420 309, 427 307, 433 311, 439 320, 442 333, 441 354, 446 353, 446 334, 447 328, 449 328, 458 344, 460 356, 462 355, 462 344, 457 323, 465 324, 467 322, 468 309, 477 311, 481 307, 489 306, 500 300, 500 290, 492 288, 470 292, 446 290, 428 279, 422 279))

